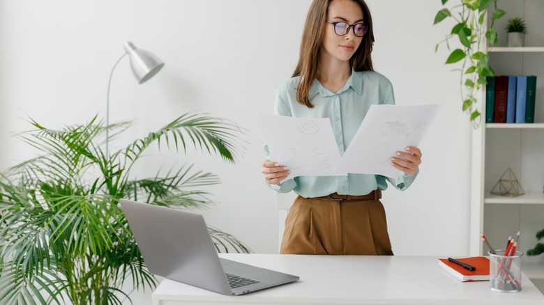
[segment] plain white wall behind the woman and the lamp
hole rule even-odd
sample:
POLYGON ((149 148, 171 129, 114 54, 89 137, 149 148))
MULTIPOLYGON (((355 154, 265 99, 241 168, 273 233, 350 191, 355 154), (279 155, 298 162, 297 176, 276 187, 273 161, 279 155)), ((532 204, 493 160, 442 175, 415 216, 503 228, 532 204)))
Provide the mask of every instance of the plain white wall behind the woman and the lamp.
MULTIPOLYGON (((274 253, 278 212, 260 164, 265 139, 259 113, 271 113, 273 91, 290 77, 310 0, 0 1, 0 166, 32 155, 8 132, 104 116, 107 79, 131 40, 165 61, 137 85, 125 58, 115 70, 111 121, 134 120, 144 136, 188 111, 204 111, 248 129, 236 165, 190 150, 146 159, 139 177, 159 166, 196 162, 222 184, 210 187, 209 224, 257 253, 274 253)), ((458 73, 435 44, 448 26, 432 26, 439 1, 368 0, 375 23, 375 68, 393 82, 398 104, 443 107, 421 144, 421 173, 405 192, 388 189, 384 205, 397 255, 468 255, 470 125, 461 112, 458 73), (417 12, 417 13, 415 13, 417 12)), ((451 29, 451 27, 450 27, 451 29)), ((131 139, 125 139, 130 141, 131 139)))

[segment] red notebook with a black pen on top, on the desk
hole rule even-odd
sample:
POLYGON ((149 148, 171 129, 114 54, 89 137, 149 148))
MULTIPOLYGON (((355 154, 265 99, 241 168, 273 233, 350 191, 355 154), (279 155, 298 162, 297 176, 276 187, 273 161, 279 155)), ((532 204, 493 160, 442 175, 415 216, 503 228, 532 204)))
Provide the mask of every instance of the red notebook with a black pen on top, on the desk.
POLYGON ((474 256, 471 258, 455 258, 462 263, 476 267, 476 270, 470 271, 464 269, 461 265, 450 262, 447 258, 438 259, 438 267, 446 270, 459 281, 489 281, 489 258, 485 256, 474 256))

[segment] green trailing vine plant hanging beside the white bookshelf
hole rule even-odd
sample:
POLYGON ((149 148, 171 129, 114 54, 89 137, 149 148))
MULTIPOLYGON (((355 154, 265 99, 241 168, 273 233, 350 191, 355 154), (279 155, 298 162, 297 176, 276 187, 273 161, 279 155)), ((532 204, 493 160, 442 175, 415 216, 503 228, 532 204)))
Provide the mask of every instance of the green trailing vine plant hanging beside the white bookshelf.
MULTIPOLYGON (((446 6, 448 0, 441 0, 442 6, 446 6)), ((451 51, 446 64, 460 63, 460 88, 462 96, 462 111, 467 112, 474 127, 481 122, 481 113, 478 111, 478 92, 483 84, 487 84, 486 77, 494 75, 489 64, 490 47, 497 44, 497 31, 494 30, 494 22, 506 14, 504 10, 497 8, 497 0, 457 0, 451 8, 439 10, 435 17, 435 23, 444 19, 453 19, 455 25, 446 39, 437 43, 445 43, 451 51), (485 24, 485 15, 491 17, 489 29, 485 24), (453 49, 450 40, 457 38, 460 47, 453 49), (485 39, 484 39, 485 38, 485 39)))

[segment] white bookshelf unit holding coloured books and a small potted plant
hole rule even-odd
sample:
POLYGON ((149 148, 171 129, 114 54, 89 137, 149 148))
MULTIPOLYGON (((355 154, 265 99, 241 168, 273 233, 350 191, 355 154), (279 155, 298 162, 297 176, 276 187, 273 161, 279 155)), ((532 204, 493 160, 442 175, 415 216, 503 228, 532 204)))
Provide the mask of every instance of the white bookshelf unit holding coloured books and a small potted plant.
MULTIPOLYGON (((471 255, 485 255, 483 232, 497 249, 506 247, 509 235, 520 230, 520 251, 536 244, 535 234, 544 228, 544 1, 499 0, 507 14, 495 23, 499 35, 490 50, 496 75, 536 75, 535 123, 481 123, 472 134, 471 255), (506 47, 506 21, 522 17, 527 24, 525 47, 506 47), (511 168, 524 190, 517 197, 491 194, 503 173, 511 168)), ((485 88, 481 94, 485 122, 485 88)), ((522 268, 544 292, 544 256, 522 258, 522 268)))

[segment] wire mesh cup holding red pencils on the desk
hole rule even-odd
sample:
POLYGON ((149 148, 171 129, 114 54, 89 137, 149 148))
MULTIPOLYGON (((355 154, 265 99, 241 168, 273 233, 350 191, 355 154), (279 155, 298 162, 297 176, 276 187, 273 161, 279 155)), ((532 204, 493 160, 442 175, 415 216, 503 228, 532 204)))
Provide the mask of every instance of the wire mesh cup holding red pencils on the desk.
POLYGON ((489 252, 489 288, 498 292, 520 291, 523 253, 515 251, 513 256, 504 256, 505 250, 496 250, 495 252, 496 254, 489 252))

